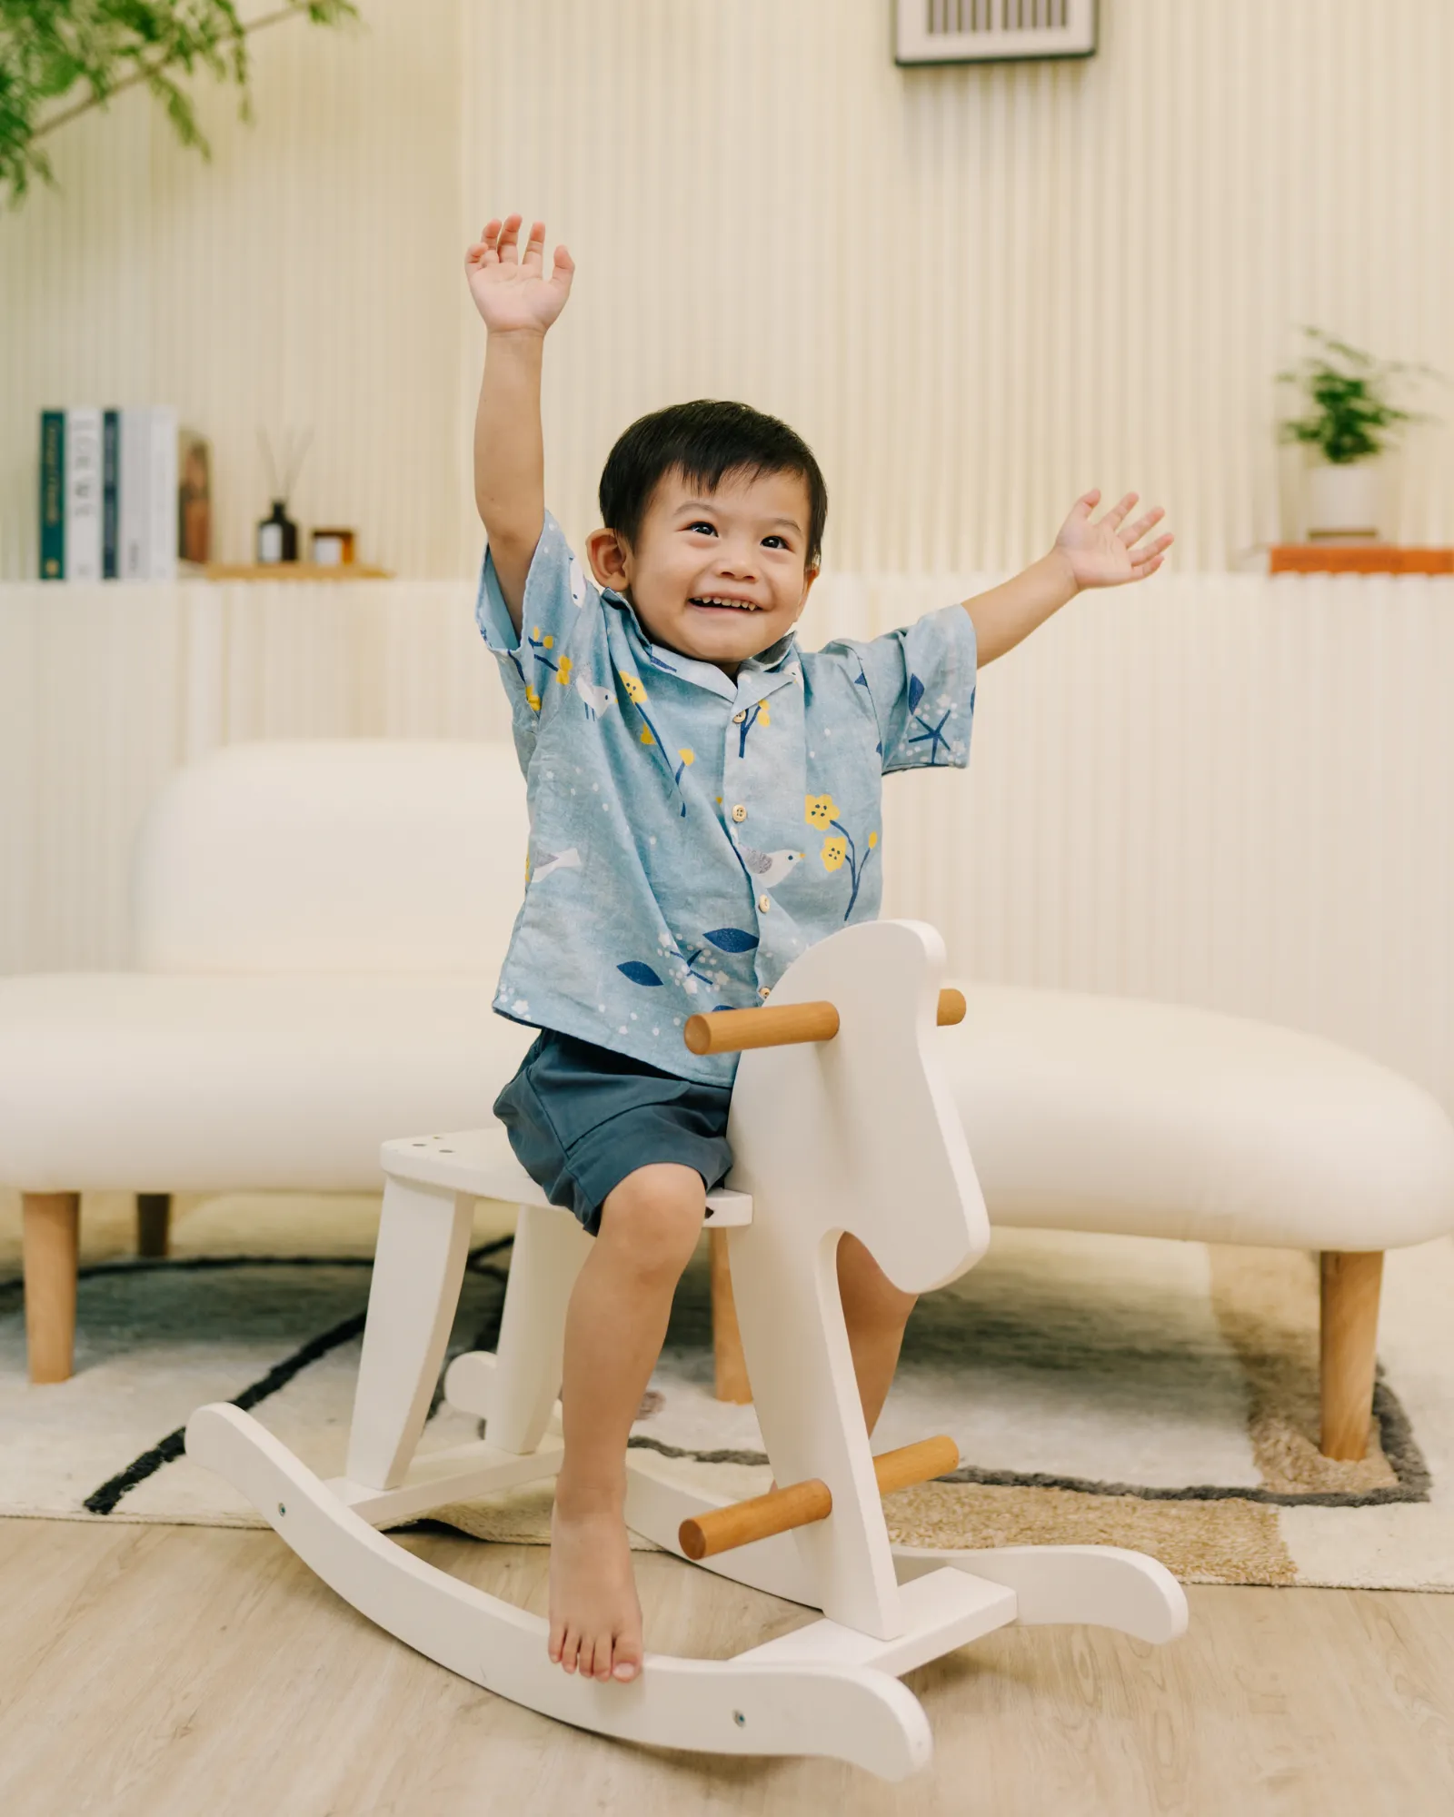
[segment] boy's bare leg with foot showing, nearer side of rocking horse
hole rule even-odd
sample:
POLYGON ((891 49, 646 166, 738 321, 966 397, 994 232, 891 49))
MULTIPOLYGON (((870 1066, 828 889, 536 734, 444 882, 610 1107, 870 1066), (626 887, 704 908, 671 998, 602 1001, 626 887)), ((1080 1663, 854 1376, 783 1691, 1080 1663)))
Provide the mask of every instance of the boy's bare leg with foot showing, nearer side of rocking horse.
POLYGON ((585 1677, 642 1670, 642 1604, 625 1537, 625 1441, 667 1334, 707 1190, 654 1163, 616 1187, 565 1314, 565 1457, 551 1521, 551 1659, 585 1677))

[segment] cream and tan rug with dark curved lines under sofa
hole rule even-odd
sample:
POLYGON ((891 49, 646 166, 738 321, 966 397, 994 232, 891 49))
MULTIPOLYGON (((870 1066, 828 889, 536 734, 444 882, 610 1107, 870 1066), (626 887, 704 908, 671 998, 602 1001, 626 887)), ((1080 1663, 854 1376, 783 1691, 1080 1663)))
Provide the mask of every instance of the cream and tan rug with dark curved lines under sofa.
MULTIPOLYGON (((134 1259, 131 1201, 82 1212, 76 1374, 31 1388, 20 1208, 0 1197, 0 1514, 258 1524, 184 1454, 202 1401, 251 1408, 322 1475, 344 1461, 378 1203, 176 1206, 173 1256, 134 1259)), ((509 1217, 482 1205, 451 1354, 493 1348, 509 1217)), ((1392 1254, 1369 1457, 1318 1454, 1314 1257, 1052 1232, 996 1234, 921 1301, 878 1448, 949 1432, 965 1466, 889 1499, 929 1546, 1114 1543, 1185 1581, 1454 1588, 1454 1245, 1392 1254)), ((711 1394, 705 1250, 678 1292, 632 1445, 731 1495, 767 1486, 751 1408, 711 1394)), ((438 1405, 425 1446, 473 1437, 438 1405)), ((543 1541, 549 1490, 442 1510, 543 1541)))

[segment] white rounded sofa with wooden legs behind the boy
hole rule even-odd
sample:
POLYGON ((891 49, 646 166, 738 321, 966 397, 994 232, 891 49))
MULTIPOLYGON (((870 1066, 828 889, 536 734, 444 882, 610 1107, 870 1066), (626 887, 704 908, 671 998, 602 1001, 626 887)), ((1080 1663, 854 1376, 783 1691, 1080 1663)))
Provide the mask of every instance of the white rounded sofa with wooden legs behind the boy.
MULTIPOLYGON (((374 1190, 380 1143, 489 1121, 531 1030, 491 1010, 525 861, 505 745, 234 745, 156 798, 134 970, 0 979, 0 1183, 31 1374, 71 1372, 78 1194, 374 1190)), ((1361 1455, 1381 1254, 1454 1228, 1454 1127, 1312 1036, 967 987, 943 1028, 996 1223, 1323 1252, 1323 1448, 1361 1455)))

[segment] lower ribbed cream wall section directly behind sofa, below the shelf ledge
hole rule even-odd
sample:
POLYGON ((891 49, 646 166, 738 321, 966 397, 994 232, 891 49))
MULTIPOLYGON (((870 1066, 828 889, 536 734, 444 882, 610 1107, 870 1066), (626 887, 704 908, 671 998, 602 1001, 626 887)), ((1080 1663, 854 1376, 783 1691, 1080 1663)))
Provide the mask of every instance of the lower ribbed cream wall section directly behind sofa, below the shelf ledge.
MULTIPOLYGON (((829 576, 803 641, 978 585, 829 576)), ((963 976, 1283 1021, 1454 1110, 1450 674, 1454 581, 1078 600, 985 670, 969 772, 885 785, 885 912, 963 976)), ((124 963, 127 845, 187 756, 507 732, 462 583, 0 589, 0 972, 124 963)))

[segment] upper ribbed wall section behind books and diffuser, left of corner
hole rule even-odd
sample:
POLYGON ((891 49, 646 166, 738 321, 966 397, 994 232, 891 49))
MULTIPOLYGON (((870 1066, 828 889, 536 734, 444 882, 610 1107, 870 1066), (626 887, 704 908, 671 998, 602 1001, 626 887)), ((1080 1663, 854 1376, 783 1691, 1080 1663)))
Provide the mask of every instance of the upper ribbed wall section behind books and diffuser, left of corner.
POLYGON ((69 403, 176 403, 211 438, 224 560, 269 509, 258 427, 313 425, 294 516, 460 572, 460 0, 362 13, 251 40, 253 125, 198 84, 211 164, 131 91, 0 216, 0 574, 36 572, 36 412, 69 403))

